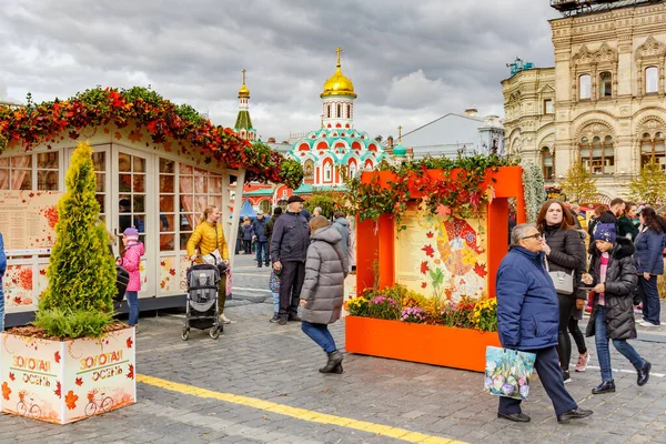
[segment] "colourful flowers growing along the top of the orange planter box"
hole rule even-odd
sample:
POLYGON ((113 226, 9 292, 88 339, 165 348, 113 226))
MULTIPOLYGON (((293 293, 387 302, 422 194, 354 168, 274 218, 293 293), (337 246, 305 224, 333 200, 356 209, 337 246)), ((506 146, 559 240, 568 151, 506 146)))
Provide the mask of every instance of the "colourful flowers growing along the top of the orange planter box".
POLYGON ((346 301, 345 309, 352 316, 497 331, 497 302, 494 297, 463 297, 453 302, 426 297, 397 284, 382 290, 365 289, 359 296, 346 301))

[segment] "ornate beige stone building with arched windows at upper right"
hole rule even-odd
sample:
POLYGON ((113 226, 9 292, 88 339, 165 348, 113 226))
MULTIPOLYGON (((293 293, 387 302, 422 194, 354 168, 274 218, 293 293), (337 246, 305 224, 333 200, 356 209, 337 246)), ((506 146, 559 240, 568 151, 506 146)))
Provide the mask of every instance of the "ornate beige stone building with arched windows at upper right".
POLYGON ((613 3, 551 20, 555 68, 502 84, 509 153, 536 160, 554 181, 583 162, 602 193, 622 196, 650 159, 666 169, 666 3, 613 3), (551 88, 552 117, 543 112, 551 88))

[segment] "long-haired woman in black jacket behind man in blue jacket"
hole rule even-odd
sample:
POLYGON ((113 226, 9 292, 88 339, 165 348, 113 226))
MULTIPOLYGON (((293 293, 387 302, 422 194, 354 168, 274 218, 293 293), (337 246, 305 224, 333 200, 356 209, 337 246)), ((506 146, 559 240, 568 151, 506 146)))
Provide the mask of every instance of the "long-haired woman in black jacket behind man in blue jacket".
POLYGON ((557 199, 549 199, 543 205, 536 218, 536 226, 544 238, 543 251, 546 253, 546 262, 549 272, 562 272, 573 274, 573 293, 558 292, 559 301, 559 327, 557 331, 557 353, 562 366, 564 382, 571 381, 569 362, 572 359, 572 339, 567 329, 569 319, 577 304, 585 304, 585 292, 578 290, 581 276, 585 273, 587 259, 585 244, 575 229, 574 218, 557 199), (581 302, 576 302, 581 300, 581 302))

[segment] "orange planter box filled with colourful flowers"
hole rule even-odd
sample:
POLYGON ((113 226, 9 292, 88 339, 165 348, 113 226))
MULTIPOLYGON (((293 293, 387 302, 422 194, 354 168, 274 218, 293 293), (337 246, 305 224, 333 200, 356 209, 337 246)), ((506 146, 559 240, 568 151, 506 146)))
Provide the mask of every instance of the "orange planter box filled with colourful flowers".
POLYGON ((402 285, 366 289, 346 302, 350 353, 483 372, 485 349, 500 346, 494 297, 457 303, 402 285))

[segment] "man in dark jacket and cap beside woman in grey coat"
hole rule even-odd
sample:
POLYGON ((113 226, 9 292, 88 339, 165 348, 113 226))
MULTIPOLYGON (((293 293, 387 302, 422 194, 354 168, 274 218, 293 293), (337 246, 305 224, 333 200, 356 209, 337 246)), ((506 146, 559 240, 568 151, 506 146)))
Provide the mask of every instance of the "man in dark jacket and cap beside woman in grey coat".
POLYGON ((301 215, 303 202, 299 195, 289 198, 286 213, 275 220, 271 236, 273 269, 280 271, 280 325, 287 320, 300 321, 297 311, 310 244, 310 226, 301 215))

